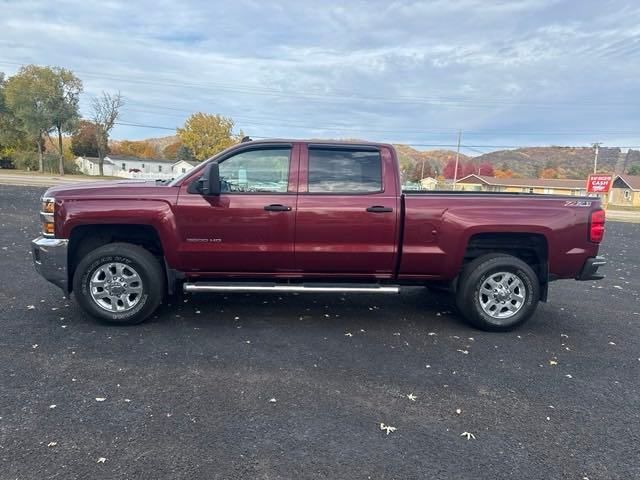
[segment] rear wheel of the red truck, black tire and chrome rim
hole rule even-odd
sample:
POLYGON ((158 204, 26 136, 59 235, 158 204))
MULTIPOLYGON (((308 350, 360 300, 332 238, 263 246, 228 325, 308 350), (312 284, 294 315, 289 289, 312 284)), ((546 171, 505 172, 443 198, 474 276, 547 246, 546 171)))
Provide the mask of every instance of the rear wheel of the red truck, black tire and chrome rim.
MULTIPOLYGON (((496 291, 492 290, 492 292, 496 291)), ((497 295, 504 292, 504 295, 508 296, 510 291, 511 286, 500 291, 497 295)), ((504 253, 483 255, 466 265, 460 275, 456 292, 456 304, 464 318, 474 327, 492 332, 509 331, 522 325, 533 315, 539 300, 540 281, 536 273, 519 258, 504 253), (484 293, 487 290, 482 289, 490 286, 489 281, 495 282, 496 279, 502 278, 497 275, 502 272, 513 274, 515 278, 508 276, 504 285, 508 286, 506 283, 510 280, 515 292, 523 297, 523 301, 520 302, 517 297, 512 295, 507 300, 499 301, 492 306, 491 301, 495 300, 495 297, 491 298, 484 293), (521 283, 513 283, 516 282, 516 279, 521 283), (517 285, 522 285, 522 287, 517 285), (493 308, 493 310, 489 309, 491 314, 485 311, 483 304, 490 309, 493 308), (520 306, 518 307, 518 305, 520 306), (510 308, 519 309, 513 313, 509 310, 510 308), (498 315, 511 316, 496 318, 498 315)))

